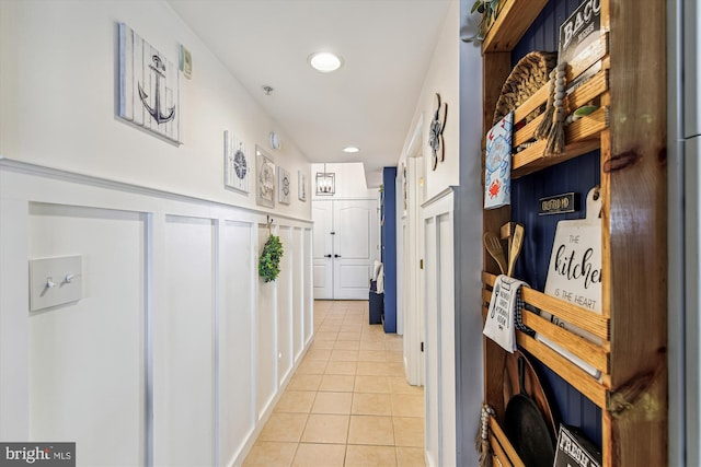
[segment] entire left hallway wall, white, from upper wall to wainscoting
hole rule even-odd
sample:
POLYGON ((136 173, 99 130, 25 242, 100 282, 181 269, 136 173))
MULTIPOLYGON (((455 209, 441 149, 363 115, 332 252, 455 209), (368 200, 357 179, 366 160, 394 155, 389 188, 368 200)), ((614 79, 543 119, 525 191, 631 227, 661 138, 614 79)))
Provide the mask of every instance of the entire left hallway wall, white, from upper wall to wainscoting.
POLYGON ((312 338, 309 162, 286 135, 267 150, 289 206, 256 206, 255 164, 250 194, 223 188, 223 130, 252 162, 275 122, 163 1, 1 1, 0 59, 0 439, 240 464, 312 338), (182 145, 115 116, 119 22, 192 51, 182 145), (264 284, 268 213, 285 257, 264 284), (84 297, 30 313, 27 260, 73 254, 84 297))

